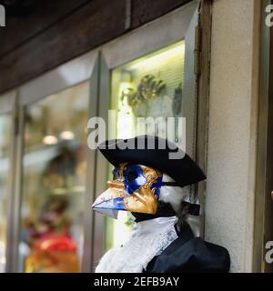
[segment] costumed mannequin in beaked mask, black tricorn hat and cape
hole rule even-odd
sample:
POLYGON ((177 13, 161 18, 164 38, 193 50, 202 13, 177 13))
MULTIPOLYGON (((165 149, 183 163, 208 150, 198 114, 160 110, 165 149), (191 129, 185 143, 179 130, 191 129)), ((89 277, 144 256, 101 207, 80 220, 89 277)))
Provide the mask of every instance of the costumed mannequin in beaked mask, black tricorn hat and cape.
POLYGON ((186 153, 165 139, 149 135, 106 141, 98 148, 115 169, 108 189, 96 198, 93 208, 115 218, 117 211, 130 211, 135 226, 126 244, 106 252, 96 272, 229 270, 227 250, 198 237, 188 219, 188 215, 197 216, 198 206, 185 202, 186 186, 206 176, 186 153), (155 145, 150 149, 152 139, 155 145), (145 146, 137 148, 137 142, 145 146), (121 143, 129 146, 124 148, 121 143), (169 158, 170 153, 177 152, 180 158, 169 158))

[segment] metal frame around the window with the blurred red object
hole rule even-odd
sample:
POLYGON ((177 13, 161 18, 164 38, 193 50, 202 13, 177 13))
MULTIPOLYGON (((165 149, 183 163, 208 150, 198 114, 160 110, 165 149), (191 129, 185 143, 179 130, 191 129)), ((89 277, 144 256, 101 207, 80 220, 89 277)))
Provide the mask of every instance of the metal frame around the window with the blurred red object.
MULTIPOLYGON (((59 65, 56 69, 51 70, 44 75, 36 77, 34 80, 18 87, 18 106, 16 112, 18 115, 18 135, 15 140, 16 165, 15 165, 15 189, 14 189, 14 215, 13 215, 13 241, 11 252, 8 257, 11 262, 9 270, 11 272, 20 271, 19 266, 19 242, 20 242, 20 226, 21 226, 21 204, 23 198, 23 138, 24 138, 24 113, 25 106, 31 105, 45 98, 48 95, 58 93, 69 87, 89 82, 89 105, 87 108, 88 118, 96 115, 97 102, 97 82, 98 82, 98 51, 97 49, 76 57, 64 65, 59 65)), ((93 191, 94 184, 94 168, 95 152, 87 151, 87 170, 86 170, 86 196, 84 209, 84 255, 82 256, 81 271, 85 272, 91 266, 91 250, 92 245, 92 215, 90 211, 90 201, 94 200, 93 191)))

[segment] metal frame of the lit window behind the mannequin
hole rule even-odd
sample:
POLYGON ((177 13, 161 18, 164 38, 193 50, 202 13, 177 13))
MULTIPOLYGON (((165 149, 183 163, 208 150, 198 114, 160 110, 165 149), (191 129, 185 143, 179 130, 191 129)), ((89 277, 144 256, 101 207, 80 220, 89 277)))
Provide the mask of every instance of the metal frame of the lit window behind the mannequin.
MULTIPOLYGON (((192 1, 187 5, 183 5, 173 12, 164 15, 158 18, 155 21, 148 23, 147 25, 143 25, 132 31, 126 35, 122 35, 117 37, 115 40, 107 43, 106 45, 101 46, 101 54, 100 54, 100 79, 99 79, 99 104, 98 104, 98 115, 105 118, 107 122, 107 110, 110 105, 110 81, 111 81, 111 70, 118 67, 119 65, 124 65, 128 62, 135 60, 138 57, 143 55, 147 55, 154 51, 157 51, 160 48, 163 48, 167 45, 171 45, 180 41, 182 39, 186 39, 186 51, 195 50, 195 25, 192 25, 192 31, 187 35, 188 26, 190 25, 191 20, 196 17, 194 21, 197 22, 197 15, 194 15, 195 11, 198 8, 198 1, 192 1), (188 38, 187 38, 188 37, 188 38)), ((188 54, 191 55, 191 54, 188 54)), ((186 55, 187 58, 187 55, 186 55)), ((188 66, 185 68, 186 74, 194 75, 194 54, 192 54, 190 59, 185 59, 185 62, 188 63, 188 66)), ((197 83, 199 82, 199 77, 196 76, 197 83)), ((193 84, 194 80, 191 80, 191 84, 193 84)), ((197 84, 196 84, 197 87, 197 84)), ((190 91, 190 88, 187 88, 190 91)), ((198 93, 197 91, 195 92, 198 93)), ((194 93, 194 94, 195 94, 194 93)), ((193 94, 193 92, 191 92, 193 94)), ((190 93, 187 92, 187 96, 191 96, 190 93)), ((197 102, 197 100, 196 100, 197 102)), ((186 102, 186 104, 190 104, 190 102, 186 102)), ((183 107, 183 106, 182 106, 183 107)), ((183 109, 182 109, 183 110, 183 109)), ((197 104, 190 104, 187 106, 187 110, 185 110, 182 115, 189 117, 191 119, 190 125, 195 124, 196 128, 190 128, 189 132, 192 135, 187 135, 187 139, 194 139, 195 142, 191 146, 187 146, 187 153, 192 156, 194 159, 197 156, 197 104), (187 116, 188 108, 193 108, 196 106, 194 110, 196 110, 196 116, 187 116), (192 118, 196 118, 194 121, 192 118)), ((198 153, 200 156, 200 153, 198 153)), ((96 169, 98 173, 105 173, 105 175, 96 176, 96 194, 102 193, 106 188, 106 180, 107 180, 107 161, 104 156, 100 153, 97 153, 96 156, 96 169)), ((203 196, 204 189, 197 189, 193 187, 193 192, 198 193, 198 195, 203 196)), ((200 201, 204 201, 203 198, 200 201)), ((104 246, 104 217, 95 212, 94 214, 94 246, 96 249, 93 249, 93 270, 95 269, 99 258, 103 255, 103 246, 104 246)), ((203 224, 204 219, 203 216, 201 218, 201 225, 203 224)), ((203 231, 203 226, 200 227, 200 230, 203 231)), ((202 236, 203 234, 200 233, 202 236)))

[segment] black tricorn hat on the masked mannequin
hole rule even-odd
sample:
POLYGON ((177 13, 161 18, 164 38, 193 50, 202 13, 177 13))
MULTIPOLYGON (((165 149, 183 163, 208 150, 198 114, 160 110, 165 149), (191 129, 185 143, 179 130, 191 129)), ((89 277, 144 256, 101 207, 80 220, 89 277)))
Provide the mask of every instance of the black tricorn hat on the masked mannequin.
POLYGON ((178 186, 206 179, 204 172, 186 153, 161 137, 138 135, 130 139, 106 140, 98 149, 114 166, 121 163, 150 166, 171 176, 178 186))

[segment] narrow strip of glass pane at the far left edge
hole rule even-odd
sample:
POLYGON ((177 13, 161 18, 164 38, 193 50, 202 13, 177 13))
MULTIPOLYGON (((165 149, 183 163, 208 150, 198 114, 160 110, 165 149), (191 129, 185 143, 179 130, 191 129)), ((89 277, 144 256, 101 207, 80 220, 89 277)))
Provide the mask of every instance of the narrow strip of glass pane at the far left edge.
POLYGON ((0 115, 0 273, 5 272, 12 116, 0 115))

